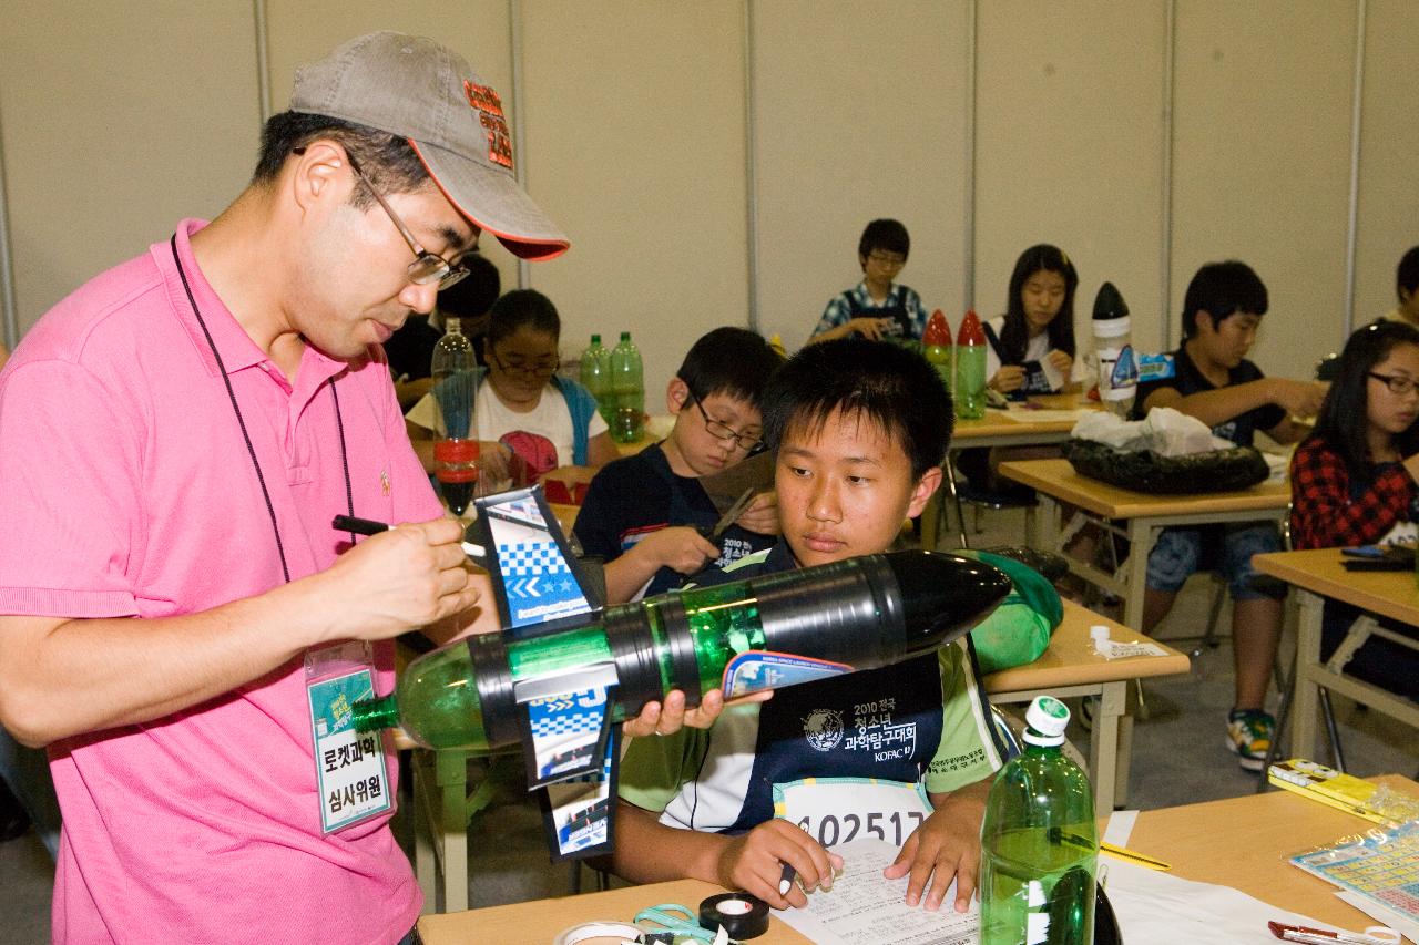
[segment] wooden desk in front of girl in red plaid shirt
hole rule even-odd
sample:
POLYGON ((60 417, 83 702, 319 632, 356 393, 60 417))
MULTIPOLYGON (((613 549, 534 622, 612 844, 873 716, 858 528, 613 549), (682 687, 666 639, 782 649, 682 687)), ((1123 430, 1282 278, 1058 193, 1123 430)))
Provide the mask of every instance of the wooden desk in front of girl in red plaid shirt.
MULTIPOLYGON (((1314 758, 1315 704, 1320 688, 1342 692, 1376 712, 1419 728, 1419 705, 1393 692, 1345 675, 1342 646, 1328 663, 1321 663, 1321 612, 1325 597, 1361 610, 1419 626, 1419 589, 1410 572, 1349 572, 1341 566, 1337 548, 1256 555, 1253 566, 1297 589, 1296 695, 1291 704, 1291 755, 1314 758)), ((1409 646, 1413 646, 1412 643, 1409 646)))

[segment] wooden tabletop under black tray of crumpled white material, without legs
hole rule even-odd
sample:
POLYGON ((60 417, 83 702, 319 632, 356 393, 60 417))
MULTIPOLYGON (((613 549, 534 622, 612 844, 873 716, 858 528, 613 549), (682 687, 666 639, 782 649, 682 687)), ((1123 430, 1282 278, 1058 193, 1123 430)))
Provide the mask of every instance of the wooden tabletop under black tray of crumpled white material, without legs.
POLYGON ((1261 482, 1235 492, 1151 495, 1080 475, 1069 460, 1015 460, 1000 464, 1000 475, 1039 490, 1061 502, 1104 518, 1206 515, 1216 512, 1274 512, 1291 501, 1288 482, 1261 482))

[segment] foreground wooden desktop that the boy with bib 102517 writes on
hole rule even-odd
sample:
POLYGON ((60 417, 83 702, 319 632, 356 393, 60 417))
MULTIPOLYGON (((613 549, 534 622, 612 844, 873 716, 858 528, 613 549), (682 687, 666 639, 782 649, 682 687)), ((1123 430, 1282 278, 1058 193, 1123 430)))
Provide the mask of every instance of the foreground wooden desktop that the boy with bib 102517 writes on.
MULTIPOLYGON (((1386 775, 1376 780, 1419 793, 1419 785, 1405 778, 1386 775)), ((1281 790, 1147 810, 1138 816, 1128 846, 1166 860, 1179 877, 1230 885, 1317 921, 1359 929, 1372 922, 1335 898, 1334 887, 1328 883, 1290 866, 1283 857, 1354 833, 1362 826, 1365 822, 1358 817, 1281 790)), ((1108 857, 1101 860, 1107 863, 1108 857)), ((640 910, 660 902, 698 907, 701 900, 719 891, 718 887, 697 880, 656 883, 470 912, 426 915, 419 919, 419 934, 426 945, 548 945, 562 929, 578 922, 629 921, 640 910)), ((768 935, 753 941, 765 945, 807 942, 778 917, 771 919, 768 935)))

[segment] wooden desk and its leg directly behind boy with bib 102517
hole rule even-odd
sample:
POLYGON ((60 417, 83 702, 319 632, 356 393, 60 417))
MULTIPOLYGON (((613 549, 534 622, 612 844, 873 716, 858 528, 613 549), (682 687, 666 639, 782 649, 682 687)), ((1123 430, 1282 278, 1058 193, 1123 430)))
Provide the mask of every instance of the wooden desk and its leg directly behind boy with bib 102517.
MULTIPOLYGON (((1188 657, 1158 643, 1166 656, 1105 660, 1094 653, 1088 629, 1103 624, 1118 641, 1145 640, 1122 624, 1064 602, 1064 620, 1050 637, 1039 660, 985 677, 992 702, 1029 702, 1036 695, 1097 695, 1098 711, 1090 736, 1088 770, 1098 810, 1114 809, 1115 799, 1128 796, 1128 765, 1132 756, 1132 718, 1125 714, 1130 680, 1186 673, 1188 657)), ((1156 641, 1151 641, 1156 643, 1156 641)))

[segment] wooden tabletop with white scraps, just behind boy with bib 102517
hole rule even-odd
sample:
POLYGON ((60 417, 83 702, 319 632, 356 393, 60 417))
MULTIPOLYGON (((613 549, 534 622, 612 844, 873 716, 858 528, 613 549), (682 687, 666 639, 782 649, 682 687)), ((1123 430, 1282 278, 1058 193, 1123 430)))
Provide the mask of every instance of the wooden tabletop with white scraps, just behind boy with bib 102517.
POLYGON ((1112 682, 1115 680, 1137 680, 1149 675, 1175 675, 1191 667, 1186 654, 1165 643, 1149 640, 1137 630, 1087 610, 1071 600, 1064 602, 1064 620, 1050 636, 1050 646, 1034 663, 1000 670, 985 677, 986 692, 1016 692, 1050 687, 1080 685, 1084 682, 1112 682), (1094 653, 1094 641, 1088 629, 1103 624, 1108 637, 1117 643, 1145 641, 1161 647, 1166 656, 1139 656, 1122 660, 1105 660, 1094 653))

